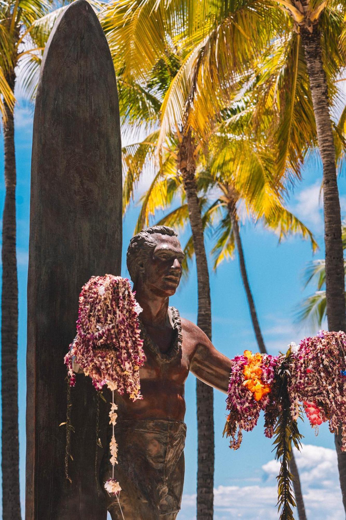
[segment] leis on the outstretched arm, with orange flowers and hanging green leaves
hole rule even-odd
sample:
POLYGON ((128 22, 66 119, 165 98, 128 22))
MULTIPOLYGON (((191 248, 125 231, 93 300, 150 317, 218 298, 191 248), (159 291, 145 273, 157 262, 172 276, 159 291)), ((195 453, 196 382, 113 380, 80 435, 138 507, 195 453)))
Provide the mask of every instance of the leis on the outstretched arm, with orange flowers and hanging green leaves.
POLYGON ((289 461, 291 444, 300 447, 297 419, 301 410, 312 427, 329 422, 331 433, 342 426, 341 450, 346 451, 346 334, 320 331, 287 354, 270 356, 245 350, 236 356, 227 397, 229 415, 223 434, 230 447, 238 449, 242 431, 252 431, 260 411, 264 411, 264 434, 275 436, 276 458, 281 460, 278 475, 278 505, 282 519, 293 519, 289 461))

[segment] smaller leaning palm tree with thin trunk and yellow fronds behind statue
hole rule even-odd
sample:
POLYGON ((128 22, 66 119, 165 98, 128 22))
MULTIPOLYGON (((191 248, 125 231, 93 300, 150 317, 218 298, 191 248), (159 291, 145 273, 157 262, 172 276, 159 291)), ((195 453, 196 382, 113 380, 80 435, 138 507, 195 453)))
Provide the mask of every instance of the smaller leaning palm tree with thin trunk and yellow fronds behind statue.
MULTIPOLYGON (((237 122, 239 122, 239 119, 237 122)), ((157 134, 158 132, 150 136, 150 138, 157 138, 157 134)), ((311 232, 294 215, 288 212, 282 204, 283 193, 280 192, 280 188, 277 189, 273 184, 273 154, 265 150, 264 146, 259 147, 256 142, 251 142, 248 138, 239 139, 240 137, 240 134, 233 134, 233 140, 231 140, 230 134, 220 136, 218 132, 217 137, 209 141, 210 146, 214 147, 214 150, 209 154, 207 164, 204 164, 202 171, 199 167, 201 164, 198 165, 197 190, 203 213, 202 223, 204 228, 210 227, 215 220, 220 222, 220 225, 217 226, 218 232, 212 233, 212 236, 216 237, 216 244, 212 251, 215 257, 214 268, 216 269, 224 258, 233 255, 235 245, 238 249, 252 324, 259 349, 262 353, 265 353, 267 351, 259 327, 245 267, 238 227, 237 205, 243 201, 247 213, 256 220, 261 219, 265 226, 278 232, 280 238, 286 236, 287 233, 299 232, 303 237, 310 238, 314 250, 317 244, 311 232), (246 162, 243 161, 244 157, 247 158, 246 162), (213 188, 212 194, 215 194, 215 188, 217 188, 217 198, 216 200, 212 199, 210 204, 208 204, 209 197, 206 198, 203 192, 208 193, 210 188, 213 188)), ((149 139, 135 147, 135 149, 124 150, 126 170, 128 172, 127 179, 129 177, 133 178, 135 165, 141 168, 141 153, 146 150, 148 157, 150 156, 148 143, 149 139), (138 161, 140 158, 141 160, 138 161), (129 174, 129 168, 132 168, 131 174, 129 174)), ((151 146, 154 149, 155 143, 152 142, 151 146)), ((174 196, 181 200, 181 205, 165 215, 158 224, 183 228, 189 222, 189 208, 185 200, 186 193, 183 178, 182 175, 177 176, 174 170, 174 162, 177 161, 176 148, 177 140, 172 139, 170 147, 166 148, 165 160, 161 164, 161 170, 158 171, 149 190, 143 196, 137 230, 144 225, 149 225, 150 216, 154 215, 157 209, 166 209, 174 201, 174 196)), ((205 157, 199 157, 198 159, 202 159, 205 162, 205 157)), ((125 186, 127 186, 127 183, 125 183, 125 186)), ((191 259, 193 253, 194 242, 193 237, 191 237, 185 246, 186 262, 191 259)), ((187 264, 184 267, 186 274, 187 264)), ((291 471, 294 473, 299 518, 302 520, 306 516, 299 475, 294 460, 292 461, 291 471)))

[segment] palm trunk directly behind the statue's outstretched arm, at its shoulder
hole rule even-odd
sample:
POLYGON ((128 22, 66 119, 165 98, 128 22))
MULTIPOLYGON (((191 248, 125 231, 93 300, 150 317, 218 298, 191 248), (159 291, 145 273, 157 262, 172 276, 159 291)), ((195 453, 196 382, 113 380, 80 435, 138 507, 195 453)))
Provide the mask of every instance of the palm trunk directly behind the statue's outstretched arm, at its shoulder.
MULTIPOLYGON (((211 306, 207 256, 201 210, 197 196, 193 142, 188 133, 179 149, 179 170, 187 196, 193 245, 196 255, 198 317, 197 325, 211 339, 211 306)), ((197 520, 214 516, 214 394, 213 389, 197 379, 197 520)))

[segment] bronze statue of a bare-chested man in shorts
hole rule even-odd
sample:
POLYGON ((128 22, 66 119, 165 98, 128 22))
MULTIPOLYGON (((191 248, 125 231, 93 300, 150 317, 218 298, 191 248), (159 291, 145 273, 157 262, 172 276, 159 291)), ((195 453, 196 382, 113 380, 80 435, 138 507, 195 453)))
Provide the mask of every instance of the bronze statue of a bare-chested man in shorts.
MULTIPOLYGON (((232 362, 191 321, 169 307, 182 274, 184 253, 177 233, 166 226, 133 237, 127 267, 134 283, 147 361, 140 369, 142 400, 116 395, 118 500, 107 496, 112 520, 174 520, 184 480, 186 426, 184 384, 189 371, 227 392, 232 362), (121 512, 122 510, 122 512, 121 512)), ((75 368, 78 370, 78 367, 75 368)), ((108 444, 107 444, 108 446, 108 444)), ((109 452, 101 463, 100 484, 110 477, 109 452)))

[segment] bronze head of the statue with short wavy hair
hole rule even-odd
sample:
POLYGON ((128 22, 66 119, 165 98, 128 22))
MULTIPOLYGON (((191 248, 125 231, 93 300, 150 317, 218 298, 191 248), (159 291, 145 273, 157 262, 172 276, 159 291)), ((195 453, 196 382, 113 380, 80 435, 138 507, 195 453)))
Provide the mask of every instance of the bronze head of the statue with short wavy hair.
POLYGON ((126 263, 135 289, 142 283, 160 296, 176 292, 184 258, 177 237, 170 227, 153 226, 131 238, 126 263))

